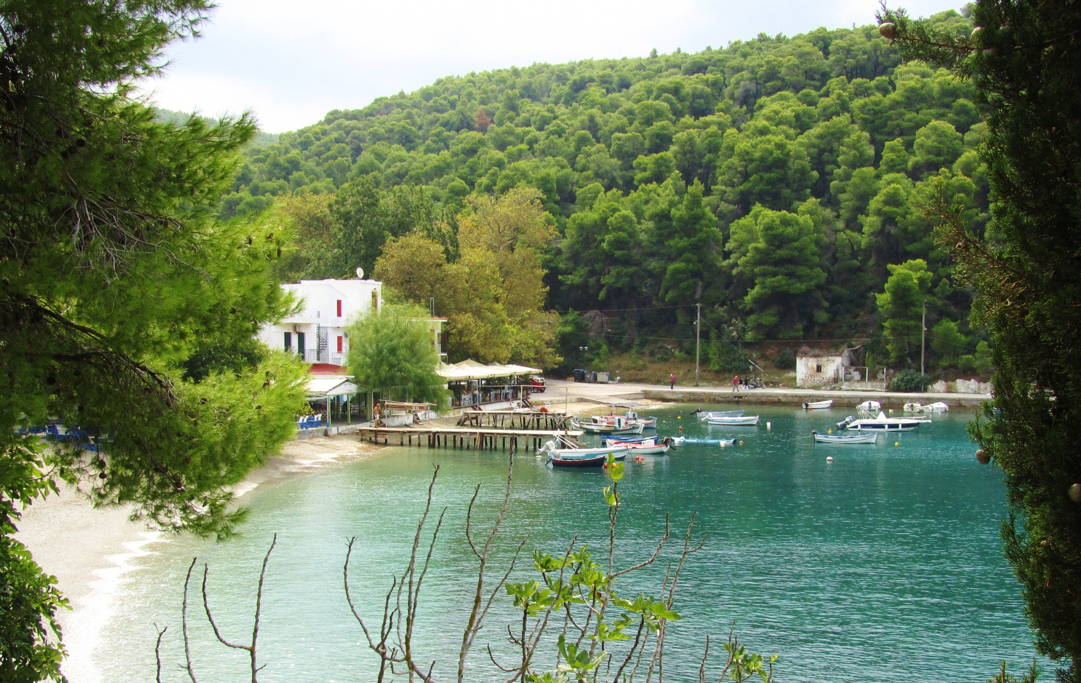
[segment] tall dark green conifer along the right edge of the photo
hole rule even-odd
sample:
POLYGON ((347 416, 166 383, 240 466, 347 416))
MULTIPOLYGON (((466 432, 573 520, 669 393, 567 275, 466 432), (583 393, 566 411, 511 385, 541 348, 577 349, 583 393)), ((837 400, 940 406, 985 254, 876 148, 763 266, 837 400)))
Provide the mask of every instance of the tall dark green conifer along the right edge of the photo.
POLYGON ((986 118, 987 237, 945 192, 925 204, 993 335, 995 400, 970 431, 1006 476, 1005 554, 1037 649, 1081 681, 1081 13, 1071 0, 979 0, 971 36, 885 12, 909 58, 970 79, 986 118))

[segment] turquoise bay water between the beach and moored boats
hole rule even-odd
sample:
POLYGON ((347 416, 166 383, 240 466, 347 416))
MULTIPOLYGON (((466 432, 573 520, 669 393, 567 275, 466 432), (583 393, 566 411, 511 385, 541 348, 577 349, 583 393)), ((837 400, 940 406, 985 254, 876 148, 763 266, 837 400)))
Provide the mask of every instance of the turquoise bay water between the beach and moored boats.
MULTIPOLYGON (((669 633, 667 680, 697 681, 705 635, 720 638, 733 621, 750 649, 780 656, 778 680, 788 682, 983 682, 1002 659, 1017 669, 1031 659, 1019 587, 998 538, 1005 515, 1001 471, 973 457, 964 432, 973 413, 880 434, 875 445, 837 446, 816 445, 805 434, 832 426, 848 410, 750 406, 748 414, 762 416, 760 426, 728 428, 708 427, 689 410, 651 413, 662 417, 660 434, 683 426, 685 436, 735 434, 743 445, 686 444, 667 456, 644 456, 628 461, 620 484, 622 564, 652 550, 666 512, 676 535, 692 512, 695 530, 708 535, 681 579, 676 608, 684 619, 669 633)), ((223 634, 246 642, 258 567, 273 533, 278 547, 259 634, 267 666, 259 680, 374 680, 376 659, 343 598, 345 540, 358 538, 351 581, 362 614, 377 624, 388 577, 408 559, 433 464, 441 467, 436 503, 449 508, 422 597, 418 658, 437 661, 439 680, 452 679, 473 576, 462 536, 465 506, 480 483, 480 517, 491 519, 506 455, 414 446, 249 494, 251 517, 236 539, 154 546, 156 554, 129 575, 103 634, 96 658, 103 680, 154 680, 155 622, 170 627, 163 680, 182 680, 175 667, 183 658, 181 591, 193 555, 199 566, 211 565, 211 606, 223 634)), ((509 548, 526 532, 528 550, 558 552, 575 534, 602 545, 603 485, 600 471, 552 470, 531 454, 518 459, 497 564, 505 566, 509 548)), ((656 578, 654 572, 635 580, 655 593, 649 581, 656 578)), ((473 649, 469 680, 498 678, 482 647, 507 647, 504 625, 511 615, 501 601, 473 649)), ((248 680, 246 653, 214 642, 197 581, 190 613, 199 680, 248 680)))

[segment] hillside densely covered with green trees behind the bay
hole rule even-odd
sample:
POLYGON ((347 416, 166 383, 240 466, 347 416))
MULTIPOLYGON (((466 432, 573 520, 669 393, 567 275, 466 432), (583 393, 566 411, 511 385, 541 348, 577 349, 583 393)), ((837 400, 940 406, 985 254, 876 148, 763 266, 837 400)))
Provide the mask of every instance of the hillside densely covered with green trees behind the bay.
MULTIPOLYGON (((934 21, 970 30, 957 12, 934 21)), ((873 26, 760 35, 444 78, 331 111, 250 147, 223 214, 289 224, 283 277, 361 266, 435 297, 452 357, 693 353, 700 303, 718 370, 770 339, 868 339, 873 364, 918 366, 926 300, 929 353, 971 371, 987 345, 920 205, 945 192, 983 231, 983 126, 969 83, 902 64, 873 26), (464 242, 478 215, 507 233, 464 242), (508 270, 501 255, 519 251, 508 270), (476 284, 450 292, 463 282, 476 284)))

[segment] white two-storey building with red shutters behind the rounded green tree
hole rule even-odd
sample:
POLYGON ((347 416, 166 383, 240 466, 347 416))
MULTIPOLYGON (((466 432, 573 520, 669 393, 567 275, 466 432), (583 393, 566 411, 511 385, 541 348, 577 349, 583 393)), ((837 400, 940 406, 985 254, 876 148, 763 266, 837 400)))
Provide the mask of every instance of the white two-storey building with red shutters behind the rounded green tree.
MULTIPOLYGON (((345 365, 349 357, 346 327, 357 318, 378 312, 383 283, 378 280, 301 280, 282 284, 301 309, 276 325, 264 325, 258 339, 272 349, 299 353, 309 363, 345 365)), ((445 318, 428 319, 431 343, 445 359, 442 325, 445 318)))

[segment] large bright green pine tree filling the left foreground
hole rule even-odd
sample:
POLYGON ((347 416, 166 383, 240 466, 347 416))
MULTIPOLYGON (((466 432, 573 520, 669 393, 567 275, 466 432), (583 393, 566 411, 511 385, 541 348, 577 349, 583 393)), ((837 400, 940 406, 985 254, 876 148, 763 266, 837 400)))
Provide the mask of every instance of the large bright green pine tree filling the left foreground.
POLYGON ((243 517, 228 487, 295 430, 305 371, 294 356, 213 352, 289 308, 271 271, 281 237, 216 222, 254 125, 160 123, 129 97, 208 6, 0 8, 0 129, 18 131, 0 136, 4 680, 61 679, 61 603, 11 538, 18 506, 63 477, 159 528, 227 536, 243 517), (79 425, 79 440, 43 453, 16 431, 51 419, 79 425))

